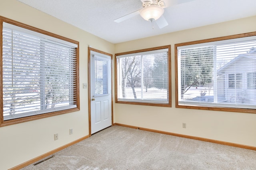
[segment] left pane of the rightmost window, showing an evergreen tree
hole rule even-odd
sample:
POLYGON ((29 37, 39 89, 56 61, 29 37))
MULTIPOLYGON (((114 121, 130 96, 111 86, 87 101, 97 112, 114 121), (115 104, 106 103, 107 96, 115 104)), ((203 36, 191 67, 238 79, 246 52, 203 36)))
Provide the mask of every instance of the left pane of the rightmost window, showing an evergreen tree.
POLYGON ((181 99, 213 100, 213 51, 214 48, 211 46, 180 51, 181 99))

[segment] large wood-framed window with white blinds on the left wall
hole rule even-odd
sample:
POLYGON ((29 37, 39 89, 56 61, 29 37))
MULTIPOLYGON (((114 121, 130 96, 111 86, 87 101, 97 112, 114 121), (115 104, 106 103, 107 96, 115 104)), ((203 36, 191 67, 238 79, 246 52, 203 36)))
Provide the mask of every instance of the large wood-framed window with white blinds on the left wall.
POLYGON ((0 125, 78 111, 78 42, 0 19, 0 125))

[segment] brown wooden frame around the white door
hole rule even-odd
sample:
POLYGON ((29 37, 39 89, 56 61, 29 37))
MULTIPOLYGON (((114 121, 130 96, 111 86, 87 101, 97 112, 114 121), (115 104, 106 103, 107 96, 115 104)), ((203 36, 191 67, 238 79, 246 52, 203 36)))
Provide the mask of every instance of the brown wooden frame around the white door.
POLYGON ((91 51, 103 54, 103 55, 108 55, 110 56, 110 68, 111 68, 111 121, 112 121, 112 126, 113 126, 113 70, 112 70, 112 59, 113 55, 110 53, 106 53, 103 51, 100 51, 98 49, 94 49, 92 47, 88 47, 88 115, 89 115, 89 137, 92 136, 92 129, 91 129, 91 51))

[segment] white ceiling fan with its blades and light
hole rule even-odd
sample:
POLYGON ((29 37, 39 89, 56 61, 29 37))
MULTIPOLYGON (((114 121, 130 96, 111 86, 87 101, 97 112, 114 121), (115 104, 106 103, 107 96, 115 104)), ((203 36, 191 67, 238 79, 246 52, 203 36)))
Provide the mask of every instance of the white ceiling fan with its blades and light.
POLYGON ((142 9, 122 16, 120 18, 117 18, 116 20, 114 20, 114 22, 120 23, 124 20, 127 20, 140 14, 140 16, 144 18, 144 20, 150 21, 152 23, 153 29, 154 21, 156 22, 159 28, 164 28, 165 26, 168 26, 168 22, 163 16, 164 8, 174 6, 177 4, 182 4, 189 1, 192 0, 141 0, 143 7, 142 9))

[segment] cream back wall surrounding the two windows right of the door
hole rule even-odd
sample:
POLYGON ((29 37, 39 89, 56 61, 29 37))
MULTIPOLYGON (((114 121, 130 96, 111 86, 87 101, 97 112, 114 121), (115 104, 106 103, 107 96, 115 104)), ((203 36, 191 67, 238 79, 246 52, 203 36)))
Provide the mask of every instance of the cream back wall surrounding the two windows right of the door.
POLYGON ((255 32, 255 21, 256 16, 116 44, 116 53, 170 44, 172 62, 172 108, 115 104, 116 123, 256 146, 256 114, 175 108, 174 68, 174 44, 255 32))

